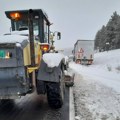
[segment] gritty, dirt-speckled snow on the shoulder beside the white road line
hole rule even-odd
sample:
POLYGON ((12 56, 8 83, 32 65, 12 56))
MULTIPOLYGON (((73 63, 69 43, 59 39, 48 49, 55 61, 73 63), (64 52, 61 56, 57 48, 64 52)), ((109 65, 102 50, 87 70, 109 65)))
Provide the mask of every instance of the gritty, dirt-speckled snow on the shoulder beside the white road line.
POLYGON ((120 94, 89 76, 75 76, 74 99, 80 120, 120 120, 120 94))

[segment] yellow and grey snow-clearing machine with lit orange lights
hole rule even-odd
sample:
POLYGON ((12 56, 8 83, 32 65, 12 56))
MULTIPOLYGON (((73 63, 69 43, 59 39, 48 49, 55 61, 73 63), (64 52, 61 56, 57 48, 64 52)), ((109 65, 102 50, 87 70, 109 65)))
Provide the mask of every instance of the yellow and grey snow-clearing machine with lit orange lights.
MULTIPOLYGON (((50 107, 61 108, 65 60, 53 50, 48 15, 42 9, 12 10, 5 14, 11 21, 11 31, 0 36, 1 102, 36 91, 38 95, 47 95, 50 107)), ((60 32, 57 38, 61 39, 60 32)))

